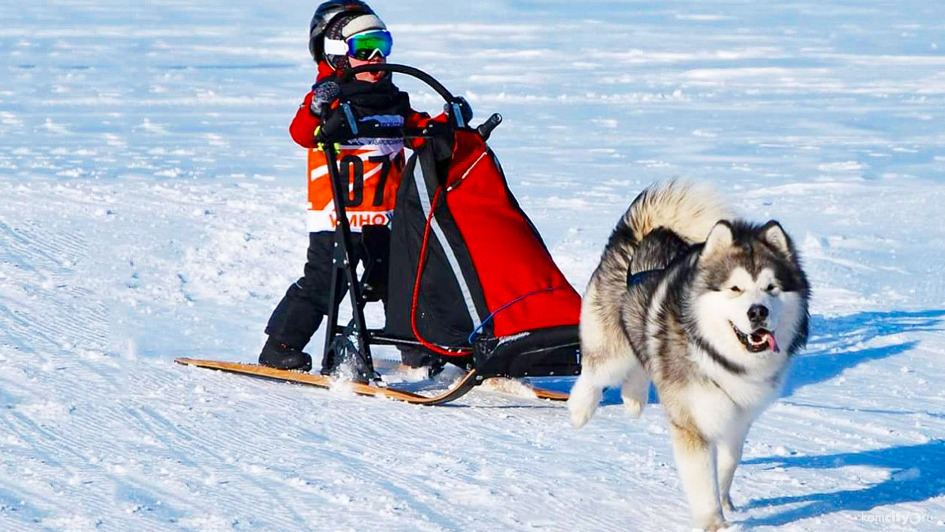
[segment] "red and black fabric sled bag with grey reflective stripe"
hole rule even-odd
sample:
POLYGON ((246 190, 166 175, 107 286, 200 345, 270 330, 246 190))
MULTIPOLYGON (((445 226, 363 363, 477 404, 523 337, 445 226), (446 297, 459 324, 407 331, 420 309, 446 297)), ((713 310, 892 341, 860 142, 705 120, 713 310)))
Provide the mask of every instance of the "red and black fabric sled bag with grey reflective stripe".
POLYGON ((508 377, 580 372, 581 300, 474 130, 404 168, 391 224, 385 335, 508 377))

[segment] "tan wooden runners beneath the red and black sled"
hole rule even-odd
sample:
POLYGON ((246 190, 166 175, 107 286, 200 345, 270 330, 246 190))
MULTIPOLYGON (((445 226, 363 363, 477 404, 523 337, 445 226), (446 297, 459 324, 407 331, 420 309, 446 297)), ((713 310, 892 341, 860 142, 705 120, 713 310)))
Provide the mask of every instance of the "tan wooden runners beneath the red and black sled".
MULTIPOLYGON (((299 371, 287 371, 285 369, 266 368, 265 366, 257 366, 255 364, 218 362, 215 360, 198 360, 193 358, 177 358, 174 360, 174 362, 184 366, 195 366, 197 368, 204 369, 218 369, 220 371, 248 375, 250 377, 270 379, 286 383, 295 383, 306 386, 317 386, 320 388, 330 388, 334 384, 332 379, 323 375, 301 373, 299 371)), ((403 401, 404 403, 433 406, 436 404, 449 403, 466 395, 466 393, 469 392, 473 387, 482 384, 483 379, 477 377, 478 375, 476 374, 476 370, 472 369, 449 389, 429 397, 419 393, 405 391, 393 387, 372 386, 360 383, 347 383, 346 386, 350 386, 352 391, 358 395, 384 397, 386 399, 393 399, 395 401, 403 401)), ((568 399, 567 394, 556 391, 542 390, 540 388, 532 388, 532 391, 535 393, 535 396, 538 399, 549 401, 567 401, 568 399)))

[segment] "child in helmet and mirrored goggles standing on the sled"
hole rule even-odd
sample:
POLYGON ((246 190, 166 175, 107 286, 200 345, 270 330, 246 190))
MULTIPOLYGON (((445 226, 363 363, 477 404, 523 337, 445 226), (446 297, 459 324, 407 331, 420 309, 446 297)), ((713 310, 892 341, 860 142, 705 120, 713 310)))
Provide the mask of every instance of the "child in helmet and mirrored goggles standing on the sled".
MULTIPOLYGON (((356 111, 358 130, 372 135, 345 140, 338 150, 342 175, 349 176, 353 187, 346 207, 355 249, 360 249, 363 226, 391 222, 404 169, 404 128, 422 129, 431 120, 445 121, 443 115, 431 119, 410 109, 408 95, 393 84, 388 73, 361 73, 346 82, 339 79, 351 68, 386 62, 392 43, 387 26, 364 2, 324 2, 312 18, 309 51, 318 63, 318 78, 289 128, 292 139, 309 148, 307 262, 304 275, 289 286, 266 325, 268 339, 259 355, 264 366, 312 369, 312 357, 302 349, 329 311, 335 205, 325 154, 318 148, 316 136, 319 128, 327 129, 337 122, 335 118, 342 117, 341 110, 335 109, 337 98, 348 101, 356 111), (326 124, 322 124, 326 111, 326 124), (397 133, 381 134, 385 129, 397 133)), ((464 101, 461 107, 468 115, 465 117, 471 118, 469 104, 464 101)), ((408 366, 424 363, 420 352, 404 352, 403 356, 408 366)))

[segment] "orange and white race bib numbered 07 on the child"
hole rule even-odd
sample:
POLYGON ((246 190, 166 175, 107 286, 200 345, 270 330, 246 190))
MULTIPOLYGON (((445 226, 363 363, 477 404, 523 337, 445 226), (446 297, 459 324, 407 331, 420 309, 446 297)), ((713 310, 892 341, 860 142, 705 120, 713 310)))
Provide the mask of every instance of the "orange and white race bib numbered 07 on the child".
MULTIPOLYGON (((404 172, 403 139, 378 139, 382 144, 340 146, 341 180, 348 181, 345 212, 353 232, 366 225, 387 225, 394 212, 397 188, 404 172)), ((332 180, 325 152, 308 150, 309 232, 335 231, 337 225, 332 180)))

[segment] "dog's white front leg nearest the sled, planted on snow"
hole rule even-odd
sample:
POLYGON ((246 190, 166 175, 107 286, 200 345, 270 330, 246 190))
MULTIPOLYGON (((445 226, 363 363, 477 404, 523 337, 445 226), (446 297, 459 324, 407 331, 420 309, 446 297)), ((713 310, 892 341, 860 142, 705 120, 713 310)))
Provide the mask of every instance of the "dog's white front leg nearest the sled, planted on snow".
POLYGON ((712 532, 725 528, 729 523, 722 517, 719 506, 713 443, 699 434, 695 427, 683 428, 675 423, 671 427, 673 454, 692 511, 692 526, 712 532))

